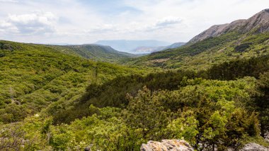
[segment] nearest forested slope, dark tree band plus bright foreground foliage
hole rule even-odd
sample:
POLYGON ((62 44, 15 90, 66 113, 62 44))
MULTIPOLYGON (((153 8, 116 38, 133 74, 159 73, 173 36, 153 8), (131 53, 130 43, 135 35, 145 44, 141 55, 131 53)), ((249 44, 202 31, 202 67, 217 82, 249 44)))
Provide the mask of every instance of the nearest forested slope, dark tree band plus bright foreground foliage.
POLYGON ((28 140, 15 143, 23 150, 139 150, 164 138, 185 139, 198 150, 268 146, 261 137, 269 130, 268 58, 93 83, 74 101, 1 125, 1 138, 6 145, 16 142, 11 137, 28 140))

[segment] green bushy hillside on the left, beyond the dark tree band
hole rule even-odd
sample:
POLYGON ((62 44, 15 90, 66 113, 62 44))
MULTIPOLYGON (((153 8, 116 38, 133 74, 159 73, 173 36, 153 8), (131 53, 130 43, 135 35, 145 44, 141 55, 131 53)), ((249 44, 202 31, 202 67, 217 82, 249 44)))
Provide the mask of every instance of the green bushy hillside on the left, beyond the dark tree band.
POLYGON ((88 84, 143 74, 66 55, 55 47, 0 41, 0 121, 19 121, 55 101, 72 100, 88 84))

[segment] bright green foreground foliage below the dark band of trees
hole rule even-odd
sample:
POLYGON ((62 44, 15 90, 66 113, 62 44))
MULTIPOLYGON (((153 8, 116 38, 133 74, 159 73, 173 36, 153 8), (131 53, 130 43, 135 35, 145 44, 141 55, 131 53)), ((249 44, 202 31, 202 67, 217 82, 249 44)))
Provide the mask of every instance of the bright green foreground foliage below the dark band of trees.
POLYGON ((52 118, 45 116, 26 118, 18 124, 29 135, 21 138, 34 140, 30 147, 36 150, 139 150, 142 142, 163 138, 185 139, 198 150, 212 150, 239 147, 244 139, 258 137, 257 114, 240 107, 251 100, 248 91, 256 89, 256 79, 185 80, 187 85, 170 91, 144 87, 127 97, 123 109, 88 106, 91 116, 69 125, 52 125, 52 118))

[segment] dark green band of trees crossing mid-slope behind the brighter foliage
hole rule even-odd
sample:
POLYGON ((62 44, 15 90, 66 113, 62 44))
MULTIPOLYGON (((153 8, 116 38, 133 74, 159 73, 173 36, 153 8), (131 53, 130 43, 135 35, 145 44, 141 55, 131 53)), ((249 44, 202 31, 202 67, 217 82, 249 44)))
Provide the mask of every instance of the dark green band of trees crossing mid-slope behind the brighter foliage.
POLYGON ((186 86, 186 79, 214 79, 214 80, 236 80, 244 77, 259 78, 261 73, 269 71, 269 55, 263 57, 251 57, 250 59, 232 60, 210 69, 200 72, 176 70, 168 72, 156 72, 142 76, 132 74, 124 77, 117 77, 103 84, 90 84, 86 93, 74 104, 61 103, 62 108, 56 108, 59 102, 51 104, 47 113, 54 117, 55 123, 70 123, 76 118, 90 116, 88 106, 91 104, 99 108, 106 106, 125 108, 129 103, 126 94, 136 96, 137 91, 147 86, 151 91, 169 90, 173 91, 179 87, 186 86), (68 109, 67 109, 68 108, 68 109))

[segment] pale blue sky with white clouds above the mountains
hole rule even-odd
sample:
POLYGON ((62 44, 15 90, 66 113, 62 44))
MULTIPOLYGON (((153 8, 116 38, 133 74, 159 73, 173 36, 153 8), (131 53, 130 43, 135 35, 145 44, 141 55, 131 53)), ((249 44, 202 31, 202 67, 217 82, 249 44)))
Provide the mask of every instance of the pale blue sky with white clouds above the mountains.
POLYGON ((268 0, 0 0, 0 39, 186 42, 214 24, 249 18, 268 0))

